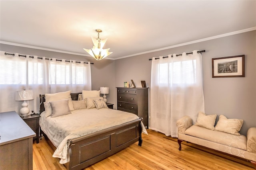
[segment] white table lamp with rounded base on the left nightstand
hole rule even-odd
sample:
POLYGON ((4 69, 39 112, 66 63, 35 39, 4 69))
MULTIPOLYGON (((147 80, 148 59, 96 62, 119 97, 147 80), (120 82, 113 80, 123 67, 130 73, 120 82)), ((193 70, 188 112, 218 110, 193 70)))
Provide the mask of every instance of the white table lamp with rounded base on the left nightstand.
POLYGON ((29 113, 28 103, 26 102, 26 100, 33 100, 33 99, 34 99, 33 90, 16 91, 15 100, 16 101, 24 101, 21 105, 22 108, 20 109, 20 114, 22 117, 26 117, 29 113))

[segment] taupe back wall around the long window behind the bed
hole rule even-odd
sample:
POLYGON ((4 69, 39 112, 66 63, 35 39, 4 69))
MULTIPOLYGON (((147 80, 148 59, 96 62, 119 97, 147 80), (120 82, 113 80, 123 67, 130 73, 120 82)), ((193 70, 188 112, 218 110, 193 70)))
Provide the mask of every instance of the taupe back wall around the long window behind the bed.
POLYGON ((66 53, 58 53, 53 51, 38 50, 26 47, 18 47, 13 45, 0 44, 0 50, 10 53, 20 53, 23 55, 37 55, 39 57, 50 57, 56 59, 72 59, 76 61, 90 61, 92 75, 92 90, 100 90, 100 87, 109 87, 109 94, 106 94, 108 102, 114 103, 116 91, 114 85, 114 61, 102 60, 96 61, 92 57, 71 55, 66 53))

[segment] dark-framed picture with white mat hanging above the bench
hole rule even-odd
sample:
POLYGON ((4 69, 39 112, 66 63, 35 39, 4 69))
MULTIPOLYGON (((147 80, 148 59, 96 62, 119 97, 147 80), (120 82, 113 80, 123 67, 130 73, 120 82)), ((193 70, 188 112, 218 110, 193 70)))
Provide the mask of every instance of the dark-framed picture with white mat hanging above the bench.
POLYGON ((244 55, 212 59, 212 77, 244 77, 244 55))

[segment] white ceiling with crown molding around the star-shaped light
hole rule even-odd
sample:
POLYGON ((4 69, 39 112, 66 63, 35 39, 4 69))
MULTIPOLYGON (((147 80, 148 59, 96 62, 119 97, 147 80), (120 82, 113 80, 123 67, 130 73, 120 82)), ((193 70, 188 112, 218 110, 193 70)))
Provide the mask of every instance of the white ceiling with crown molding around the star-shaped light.
POLYGON ((90 56, 102 29, 107 58, 256 29, 256 1, 0 1, 0 42, 90 56))

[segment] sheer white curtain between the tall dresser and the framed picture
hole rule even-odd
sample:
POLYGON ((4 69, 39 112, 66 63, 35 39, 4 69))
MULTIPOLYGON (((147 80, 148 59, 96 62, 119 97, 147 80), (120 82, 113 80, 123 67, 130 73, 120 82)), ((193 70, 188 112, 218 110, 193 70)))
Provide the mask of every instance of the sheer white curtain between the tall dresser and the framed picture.
POLYGON ((204 112, 202 55, 176 55, 153 58, 151 66, 150 129, 172 137, 178 137, 178 119, 188 115, 195 123, 204 112))

